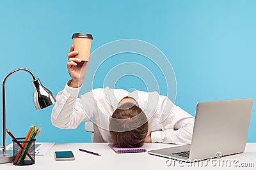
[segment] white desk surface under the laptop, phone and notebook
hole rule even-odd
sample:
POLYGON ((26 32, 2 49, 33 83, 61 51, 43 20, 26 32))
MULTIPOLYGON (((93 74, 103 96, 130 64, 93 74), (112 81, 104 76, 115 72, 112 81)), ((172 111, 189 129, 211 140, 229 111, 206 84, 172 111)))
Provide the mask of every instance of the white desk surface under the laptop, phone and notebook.
MULTIPOLYGON (((145 144, 147 150, 154 150, 157 148, 167 148, 177 145, 168 145, 160 143, 145 144)), ((256 167, 256 143, 247 143, 244 153, 223 157, 222 159, 238 160, 237 163, 252 163, 253 167, 236 167, 235 169, 255 169, 256 167)), ((56 143, 49 152, 44 156, 36 156, 35 164, 31 166, 13 166, 12 163, 0 164, 1 170, 13 169, 198 169, 198 167, 180 167, 179 164, 166 166, 166 158, 149 155, 148 153, 119 153, 116 154, 108 147, 108 143, 56 143), (92 152, 100 153, 101 156, 92 155, 89 153, 80 152, 78 148, 90 150, 92 152), (76 160, 56 161, 54 160, 54 151, 58 150, 72 150, 76 160)), ((221 159, 220 159, 221 160, 221 159)), ((251 164, 251 166, 252 166, 251 164)), ((181 166, 182 166, 181 165, 181 166)), ((210 164, 206 169, 234 169, 234 167, 213 167, 210 164)))

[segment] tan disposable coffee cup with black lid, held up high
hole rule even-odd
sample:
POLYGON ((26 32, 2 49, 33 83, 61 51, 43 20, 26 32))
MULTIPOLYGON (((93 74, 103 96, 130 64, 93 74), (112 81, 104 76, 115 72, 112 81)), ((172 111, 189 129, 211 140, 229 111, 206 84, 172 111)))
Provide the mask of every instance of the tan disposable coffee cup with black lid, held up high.
POLYGON ((88 61, 91 54, 92 34, 74 33, 72 36, 74 51, 78 51, 77 59, 88 61))

